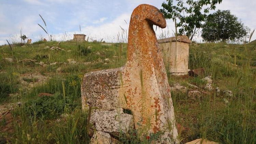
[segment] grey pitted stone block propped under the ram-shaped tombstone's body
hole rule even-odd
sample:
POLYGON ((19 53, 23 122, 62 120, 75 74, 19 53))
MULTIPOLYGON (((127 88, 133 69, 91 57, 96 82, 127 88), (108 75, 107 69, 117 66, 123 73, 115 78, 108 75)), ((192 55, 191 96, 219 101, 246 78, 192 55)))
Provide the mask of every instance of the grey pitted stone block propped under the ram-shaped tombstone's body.
POLYGON ((94 112, 90 122, 93 124, 93 129, 115 135, 118 135, 120 130, 124 133, 131 131, 134 124, 132 115, 125 114, 122 108, 114 111, 94 112))

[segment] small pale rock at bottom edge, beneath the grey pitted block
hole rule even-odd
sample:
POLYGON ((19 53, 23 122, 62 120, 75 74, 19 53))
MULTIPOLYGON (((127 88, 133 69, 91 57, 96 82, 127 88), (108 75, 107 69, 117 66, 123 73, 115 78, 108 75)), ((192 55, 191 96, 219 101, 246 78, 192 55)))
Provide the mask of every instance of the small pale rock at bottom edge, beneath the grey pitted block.
POLYGON ((90 144, 111 144, 111 136, 103 131, 95 131, 90 144))

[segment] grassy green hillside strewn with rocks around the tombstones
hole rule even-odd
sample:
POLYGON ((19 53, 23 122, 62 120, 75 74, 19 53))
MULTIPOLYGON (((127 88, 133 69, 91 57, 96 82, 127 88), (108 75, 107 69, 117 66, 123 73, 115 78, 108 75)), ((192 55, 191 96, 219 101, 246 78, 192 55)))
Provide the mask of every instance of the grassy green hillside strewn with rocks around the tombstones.
MULTIPOLYGON (((0 105, 16 105, 11 115, 0 121, 0 143, 88 143, 88 114, 81 111, 81 79, 87 72, 123 66, 127 45, 123 44, 123 51, 120 47, 72 41, 13 45, 12 50, 8 45, 0 46, 0 105), (52 50, 52 46, 60 49, 52 50), (13 62, 3 58, 13 58, 13 62), (52 96, 39 96, 40 93, 52 96), (22 104, 18 106, 17 102, 22 104)), ((195 100, 186 93, 172 92, 182 143, 197 138, 220 143, 256 143, 253 47, 193 43, 189 69, 204 68, 204 75, 184 78, 168 74, 170 84, 188 87, 187 83, 191 83, 201 90, 201 78, 211 75, 214 88, 233 93, 228 97, 214 90, 205 91, 195 100)))

